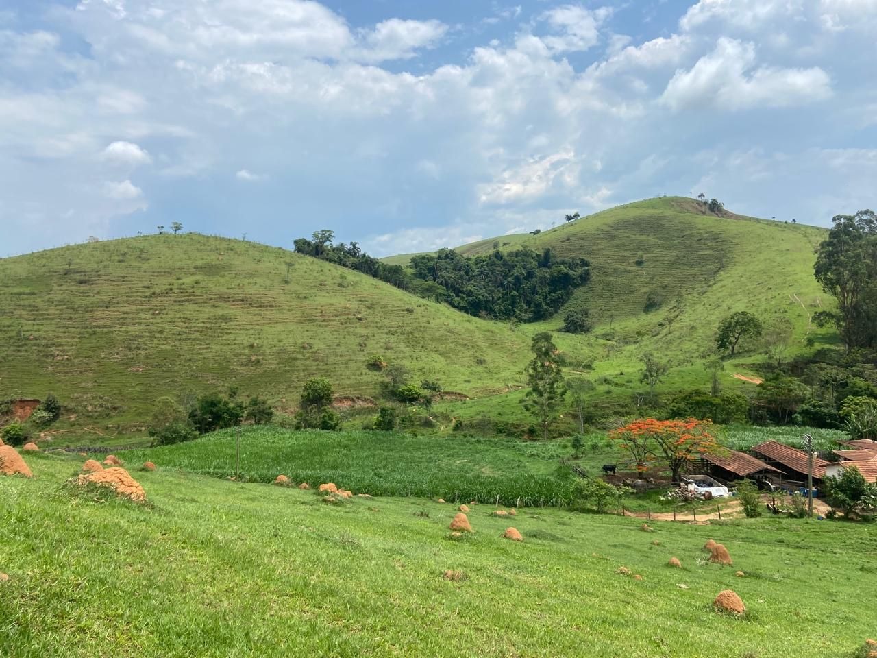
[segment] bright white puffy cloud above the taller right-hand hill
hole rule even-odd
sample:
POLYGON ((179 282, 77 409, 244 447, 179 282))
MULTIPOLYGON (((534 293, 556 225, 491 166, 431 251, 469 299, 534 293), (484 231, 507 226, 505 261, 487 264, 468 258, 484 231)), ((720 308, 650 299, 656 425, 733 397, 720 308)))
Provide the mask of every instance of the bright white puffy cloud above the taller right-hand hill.
POLYGON ((688 71, 679 70, 661 101, 674 111, 688 108, 745 110, 782 107, 831 96, 831 80, 822 68, 753 66, 755 46, 719 39, 716 49, 688 71))

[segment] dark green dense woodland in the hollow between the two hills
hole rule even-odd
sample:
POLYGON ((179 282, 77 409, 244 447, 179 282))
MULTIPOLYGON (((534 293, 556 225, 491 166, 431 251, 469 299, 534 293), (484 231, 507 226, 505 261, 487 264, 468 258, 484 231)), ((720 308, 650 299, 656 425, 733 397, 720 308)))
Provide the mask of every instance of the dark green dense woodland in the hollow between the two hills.
POLYGON ((467 258, 453 249, 411 259, 410 268, 364 254, 356 242, 333 243, 334 232, 295 240, 296 252, 374 276, 420 297, 446 302, 469 315, 531 322, 551 317, 588 282, 588 261, 558 258, 551 249, 495 251, 467 258))

